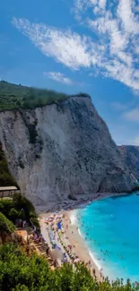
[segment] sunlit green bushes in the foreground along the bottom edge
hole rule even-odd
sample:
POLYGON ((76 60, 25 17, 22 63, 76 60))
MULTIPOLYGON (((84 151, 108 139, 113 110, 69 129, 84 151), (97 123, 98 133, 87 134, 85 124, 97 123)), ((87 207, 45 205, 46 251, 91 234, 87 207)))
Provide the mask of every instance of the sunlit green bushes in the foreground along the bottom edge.
POLYGON ((33 254, 27 257, 14 244, 0 248, 0 290, 2 291, 135 291, 139 287, 122 280, 98 283, 83 264, 74 270, 65 264, 50 270, 48 261, 33 254))

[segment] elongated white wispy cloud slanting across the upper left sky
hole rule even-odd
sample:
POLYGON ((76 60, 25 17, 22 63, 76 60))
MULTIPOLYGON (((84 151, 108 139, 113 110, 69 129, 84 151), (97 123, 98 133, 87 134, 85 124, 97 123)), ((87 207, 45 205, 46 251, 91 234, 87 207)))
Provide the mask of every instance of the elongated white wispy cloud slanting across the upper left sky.
POLYGON ((26 19, 13 18, 13 25, 39 47, 46 56, 77 70, 91 66, 90 42, 71 30, 57 30, 45 24, 30 23, 26 19))

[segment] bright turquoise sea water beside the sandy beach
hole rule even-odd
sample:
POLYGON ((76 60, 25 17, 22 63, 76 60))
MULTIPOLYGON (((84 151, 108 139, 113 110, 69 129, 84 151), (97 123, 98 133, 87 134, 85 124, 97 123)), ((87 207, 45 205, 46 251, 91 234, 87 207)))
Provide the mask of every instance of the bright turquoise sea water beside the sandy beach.
POLYGON ((104 276, 139 281, 139 196, 92 202, 77 211, 77 219, 104 276))

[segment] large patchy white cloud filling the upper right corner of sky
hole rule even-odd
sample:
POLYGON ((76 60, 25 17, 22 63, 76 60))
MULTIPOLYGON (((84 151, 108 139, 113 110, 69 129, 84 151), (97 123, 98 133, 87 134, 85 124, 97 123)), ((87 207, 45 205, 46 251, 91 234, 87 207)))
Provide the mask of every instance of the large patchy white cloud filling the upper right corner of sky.
POLYGON ((139 7, 135 4, 133 0, 74 0, 74 11, 105 47, 100 61, 104 75, 139 90, 139 7))

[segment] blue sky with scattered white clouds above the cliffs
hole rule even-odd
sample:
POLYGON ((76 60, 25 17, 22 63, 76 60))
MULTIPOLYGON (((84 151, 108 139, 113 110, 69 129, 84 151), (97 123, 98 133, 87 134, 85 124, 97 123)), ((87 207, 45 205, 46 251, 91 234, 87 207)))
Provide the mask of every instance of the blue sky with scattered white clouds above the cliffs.
POLYGON ((138 1, 1 1, 0 78, 88 92, 114 141, 139 145, 138 1))

